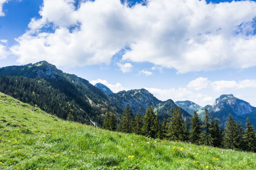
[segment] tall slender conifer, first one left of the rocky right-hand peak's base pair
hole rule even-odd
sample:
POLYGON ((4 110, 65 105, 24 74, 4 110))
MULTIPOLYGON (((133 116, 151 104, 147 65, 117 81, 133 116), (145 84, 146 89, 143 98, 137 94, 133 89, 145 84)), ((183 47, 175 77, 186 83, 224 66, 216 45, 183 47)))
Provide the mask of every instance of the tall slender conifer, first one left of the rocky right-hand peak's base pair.
POLYGON ((210 116, 209 116, 208 110, 205 108, 205 115, 203 117, 203 125, 202 125, 203 132, 201 133, 201 142, 204 145, 210 144, 211 134, 210 134, 209 120, 210 120, 210 116))

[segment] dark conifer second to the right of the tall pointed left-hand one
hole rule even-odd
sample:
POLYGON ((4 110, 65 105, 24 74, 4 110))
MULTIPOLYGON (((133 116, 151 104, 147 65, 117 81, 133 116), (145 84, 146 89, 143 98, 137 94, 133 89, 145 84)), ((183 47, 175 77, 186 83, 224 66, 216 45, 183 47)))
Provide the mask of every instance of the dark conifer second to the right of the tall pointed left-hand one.
POLYGON ((154 129, 155 113, 153 107, 148 107, 143 118, 143 132, 146 137, 155 137, 156 129, 154 129))

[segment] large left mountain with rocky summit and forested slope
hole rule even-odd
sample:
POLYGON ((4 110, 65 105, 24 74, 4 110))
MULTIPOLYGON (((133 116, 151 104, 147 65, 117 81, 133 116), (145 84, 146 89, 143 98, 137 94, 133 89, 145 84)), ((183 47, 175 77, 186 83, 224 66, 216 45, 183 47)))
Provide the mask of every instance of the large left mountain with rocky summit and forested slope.
POLYGON ((86 124, 101 125, 107 106, 117 117, 123 111, 87 80, 46 61, 0 68, 0 91, 62 119, 70 113, 75 121, 86 124))

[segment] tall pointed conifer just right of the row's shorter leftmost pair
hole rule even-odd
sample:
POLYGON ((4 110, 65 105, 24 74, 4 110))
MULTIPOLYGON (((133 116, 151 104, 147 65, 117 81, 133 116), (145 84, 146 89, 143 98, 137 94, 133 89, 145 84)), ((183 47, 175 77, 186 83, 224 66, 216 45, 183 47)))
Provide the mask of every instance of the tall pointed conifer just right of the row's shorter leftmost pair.
POLYGON ((118 131, 124 132, 124 133, 131 133, 132 132, 132 117, 133 113, 131 110, 130 105, 127 103, 123 115, 121 117, 119 126, 118 126, 118 131))

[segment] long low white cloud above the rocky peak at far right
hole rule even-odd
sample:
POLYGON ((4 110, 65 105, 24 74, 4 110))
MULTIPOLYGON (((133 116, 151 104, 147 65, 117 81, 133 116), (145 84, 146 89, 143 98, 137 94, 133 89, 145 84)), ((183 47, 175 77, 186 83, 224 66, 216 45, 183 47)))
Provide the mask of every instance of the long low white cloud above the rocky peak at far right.
POLYGON ((199 77, 190 81, 187 85, 193 90, 201 90, 203 88, 211 87, 214 91, 237 90, 241 88, 256 88, 256 80, 242 80, 242 81, 214 81, 211 82, 207 78, 199 77))

